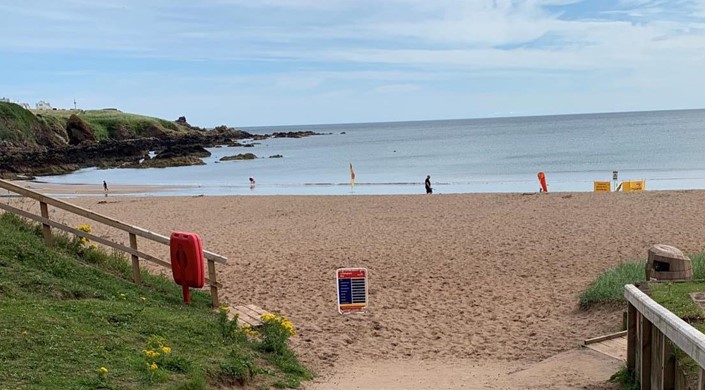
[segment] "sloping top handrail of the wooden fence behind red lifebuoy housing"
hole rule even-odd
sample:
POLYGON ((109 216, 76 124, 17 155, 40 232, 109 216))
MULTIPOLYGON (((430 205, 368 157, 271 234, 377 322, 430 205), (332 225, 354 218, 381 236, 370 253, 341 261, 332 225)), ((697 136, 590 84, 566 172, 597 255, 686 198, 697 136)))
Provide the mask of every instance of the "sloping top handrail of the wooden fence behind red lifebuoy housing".
MULTIPOLYGON (((35 192, 32 190, 20 187, 18 185, 15 185, 13 183, 10 183, 6 180, 0 180, 0 187, 6 189, 8 191, 12 191, 17 194, 26 196, 28 198, 32 198, 32 199, 37 200, 39 202, 42 202, 45 204, 50 204, 50 205, 58 207, 62 210, 72 212, 72 213, 80 215, 82 217, 92 219, 94 221, 103 223, 105 225, 108 225, 108 226, 111 226, 111 227, 114 227, 114 228, 117 228, 120 230, 124 230, 124 231, 126 231, 128 233, 132 233, 136 236, 140 236, 140 237, 146 238, 148 240, 152 240, 152 241, 156 241, 156 242, 159 242, 159 243, 162 243, 165 245, 169 245, 169 242, 170 242, 169 237, 162 236, 161 234, 151 232, 149 230, 143 229, 138 226, 126 224, 124 222, 118 221, 117 219, 114 219, 114 218, 111 218, 111 217, 108 217, 108 216, 105 216, 102 214, 95 213, 95 212, 90 211, 88 209, 84 209, 83 207, 79 207, 79 206, 73 205, 71 203, 61 201, 59 199, 48 197, 48 196, 43 195, 39 192, 35 192)), ((226 257, 221 256, 216 253, 213 253, 213 252, 210 252, 210 251, 206 251, 206 250, 203 251, 203 255, 206 259, 213 260, 213 261, 221 263, 221 264, 225 264, 228 261, 228 259, 226 257)))

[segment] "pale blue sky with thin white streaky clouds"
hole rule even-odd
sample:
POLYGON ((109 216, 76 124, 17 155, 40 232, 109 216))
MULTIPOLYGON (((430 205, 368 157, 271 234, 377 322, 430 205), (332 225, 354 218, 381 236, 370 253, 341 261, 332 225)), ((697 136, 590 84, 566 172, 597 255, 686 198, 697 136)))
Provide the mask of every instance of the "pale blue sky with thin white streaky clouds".
POLYGON ((0 97, 213 127, 705 108, 705 0, 0 0, 0 97))

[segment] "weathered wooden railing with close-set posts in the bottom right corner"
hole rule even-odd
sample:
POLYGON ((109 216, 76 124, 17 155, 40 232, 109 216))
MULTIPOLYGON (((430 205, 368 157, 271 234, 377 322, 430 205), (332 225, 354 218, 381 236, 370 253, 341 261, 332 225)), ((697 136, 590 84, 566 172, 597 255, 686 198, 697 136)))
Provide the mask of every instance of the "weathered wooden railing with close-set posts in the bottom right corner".
POLYGON ((636 286, 624 287, 627 309, 627 369, 642 390, 684 388, 676 375, 673 346, 680 348, 700 367, 698 389, 705 389, 705 335, 636 286))

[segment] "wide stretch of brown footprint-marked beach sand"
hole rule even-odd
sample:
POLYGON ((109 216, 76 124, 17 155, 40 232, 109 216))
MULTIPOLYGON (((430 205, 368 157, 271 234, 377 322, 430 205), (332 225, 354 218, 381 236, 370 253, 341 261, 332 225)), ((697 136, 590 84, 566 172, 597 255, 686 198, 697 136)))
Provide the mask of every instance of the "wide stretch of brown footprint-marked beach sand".
POLYGON ((578 308, 604 270, 656 243, 705 246, 703 191, 71 202, 165 235, 199 233, 230 259, 218 268, 223 301, 297 326, 293 344, 320 375, 313 389, 600 386, 617 363, 585 378, 580 366, 533 382, 510 373, 619 330, 620 309, 578 308), (370 307, 341 316, 334 270, 351 266, 369 269, 370 307))

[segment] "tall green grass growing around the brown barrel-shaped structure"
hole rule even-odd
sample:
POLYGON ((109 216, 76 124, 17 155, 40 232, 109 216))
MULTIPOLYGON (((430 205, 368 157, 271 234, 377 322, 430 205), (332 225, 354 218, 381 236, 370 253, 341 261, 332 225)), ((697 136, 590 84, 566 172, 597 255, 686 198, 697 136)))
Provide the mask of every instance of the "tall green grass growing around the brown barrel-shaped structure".
MULTIPOLYGON (((693 278, 705 280, 705 252, 690 256, 693 278)), ((629 261, 605 271, 590 283, 580 296, 580 306, 589 308, 597 303, 624 302, 624 285, 646 280, 646 261, 629 261)))

